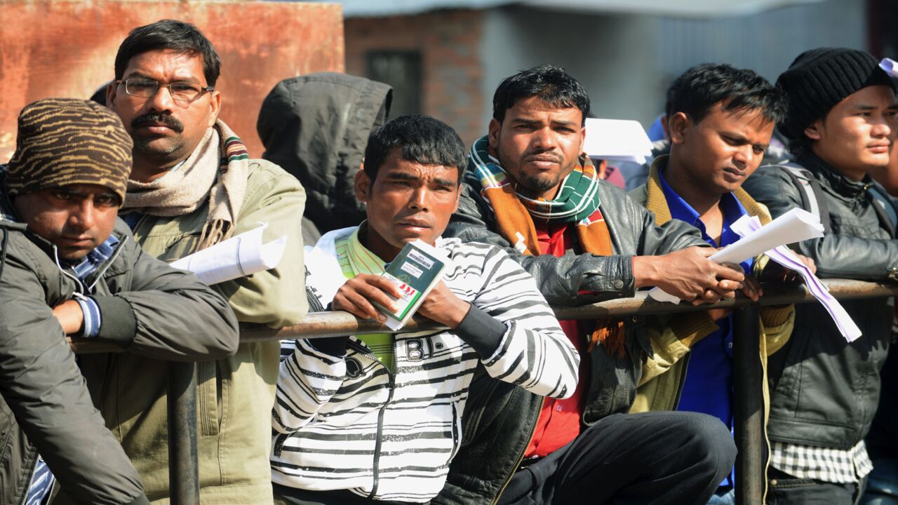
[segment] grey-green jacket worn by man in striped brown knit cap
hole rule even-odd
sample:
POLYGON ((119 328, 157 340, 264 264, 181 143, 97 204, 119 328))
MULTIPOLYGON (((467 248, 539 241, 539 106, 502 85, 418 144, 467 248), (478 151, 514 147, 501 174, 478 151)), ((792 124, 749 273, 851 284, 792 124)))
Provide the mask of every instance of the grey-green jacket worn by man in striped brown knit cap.
POLYGON ((120 220, 114 253, 83 282, 14 216, 0 182, 0 503, 24 502, 39 452, 72 501, 148 503, 88 394, 101 384, 85 383, 52 307, 81 293, 101 309, 97 341, 210 357, 236 350, 233 312, 192 274, 143 253, 120 220))

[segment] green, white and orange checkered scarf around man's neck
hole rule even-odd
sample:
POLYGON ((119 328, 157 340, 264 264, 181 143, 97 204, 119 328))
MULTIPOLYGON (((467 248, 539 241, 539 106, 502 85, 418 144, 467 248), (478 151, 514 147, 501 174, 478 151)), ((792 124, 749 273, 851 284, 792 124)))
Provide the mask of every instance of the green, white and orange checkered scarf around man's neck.
MULTIPOLYGON (((599 176, 588 157, 561 183, 555 199, 532 198, 506 173, 498 160, 489 155, 489 139, 480 137, 471 146, 468 159, 471 176, 468 184, 489 202, 496 216, 499 235, 522 254, 540 255, 540 243, 533 219, 573 223, 577 238, 586 253, 609 256, 613 253, 611 233, 602 216, 599 201, 599 176)), ((589 350, 601 342, 609 354, 623 356, 623 323, 596 321, 589 350)))

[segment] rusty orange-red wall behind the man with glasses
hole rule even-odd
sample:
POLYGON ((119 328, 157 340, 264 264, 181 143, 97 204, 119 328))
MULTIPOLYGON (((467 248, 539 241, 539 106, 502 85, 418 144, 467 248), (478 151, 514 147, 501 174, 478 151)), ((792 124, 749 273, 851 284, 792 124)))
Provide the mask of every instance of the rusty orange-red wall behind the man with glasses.
POLYGON ((222 120, 260 156, 256 118, 277 82, 343 70, 338 4, 0 0, 0 163, 13 155, 16 118, 47 97, 90 98, 113 77, 133 28, 172 18, 196 24, 216 46, 222 120))

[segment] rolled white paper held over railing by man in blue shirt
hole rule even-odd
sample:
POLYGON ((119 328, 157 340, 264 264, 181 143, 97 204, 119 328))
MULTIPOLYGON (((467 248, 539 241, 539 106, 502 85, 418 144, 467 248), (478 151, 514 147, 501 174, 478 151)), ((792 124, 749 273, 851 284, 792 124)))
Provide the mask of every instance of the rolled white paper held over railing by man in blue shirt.
MULTIPOLYGON (((733 230, 741 227, 740 223, 751 220, 753 217, 745 215, 733 223, 733 230)), ((757 217, 754 217, 757 219, 757 217)), ((729 244, 717 253, 711 254, 709 260, 718 263, 741 263, 759 254, 766 253, 778 245, 792 244, 819 238, 823 236, 823 225, 820 218, 801 208, 793 208, 780 217, 770 221, 765 226, 753 230, 744 235, 733 244, 729 244)), ((652 288, 648 292, 649 297, 658 301, 680 303, 680 298, 665 293, 660 288, 652 288)))

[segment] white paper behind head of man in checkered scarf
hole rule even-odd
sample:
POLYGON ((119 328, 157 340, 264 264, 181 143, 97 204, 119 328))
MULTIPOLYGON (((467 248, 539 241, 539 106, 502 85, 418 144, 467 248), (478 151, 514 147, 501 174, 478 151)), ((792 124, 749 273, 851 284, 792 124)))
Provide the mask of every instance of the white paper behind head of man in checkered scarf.
POLYGON ((587 118, 583 150, 591 158, 644 164, 652 141, 638 121, 587 118))

